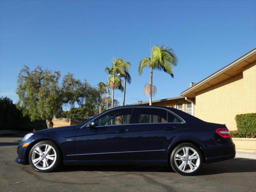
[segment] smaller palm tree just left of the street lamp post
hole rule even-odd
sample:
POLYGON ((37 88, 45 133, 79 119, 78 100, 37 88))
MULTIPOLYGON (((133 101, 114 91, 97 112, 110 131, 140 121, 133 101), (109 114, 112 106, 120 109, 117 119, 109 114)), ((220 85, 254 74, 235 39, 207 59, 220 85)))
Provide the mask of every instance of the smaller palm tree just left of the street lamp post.
MULTIPOLYGON (((111 68, 106 67, 105 71, 110 74, 110 88, 112 88, 112 104, 114 107, 114 90, 118 88, 118 84, 115 81, 122 82, 120 78, 117 76, 118 73, 127 74, 130 69, 130 62, 126 62, 123 58, 113 58, 111 68)), ((130 74, 129 74, 130 77, 130 74)), ((128 81, 127 81, 128 82, 128 81)), ((122 84, 121 84, 122 85, 122 84)))

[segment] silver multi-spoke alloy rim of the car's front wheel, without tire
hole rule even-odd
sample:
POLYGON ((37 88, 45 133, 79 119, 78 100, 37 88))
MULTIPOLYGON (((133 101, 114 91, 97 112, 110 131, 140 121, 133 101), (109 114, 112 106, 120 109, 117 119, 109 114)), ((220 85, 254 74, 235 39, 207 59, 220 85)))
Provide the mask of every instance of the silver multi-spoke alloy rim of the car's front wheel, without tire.
POLYGON ((56 162, 57 154, 49 144, 41 144, 32 152, 32 163, 40 170, 50 169, 56 162))

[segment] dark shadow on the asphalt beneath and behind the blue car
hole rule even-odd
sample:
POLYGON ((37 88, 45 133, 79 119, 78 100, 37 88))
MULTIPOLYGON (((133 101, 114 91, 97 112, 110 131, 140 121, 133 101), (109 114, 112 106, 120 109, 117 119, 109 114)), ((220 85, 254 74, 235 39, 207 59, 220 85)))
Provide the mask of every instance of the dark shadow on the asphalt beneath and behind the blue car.
MULTIPOLYGON (((55 172, 101 171, 101 172, 174 172, 172 168, 160 166, 62 166, 55 172)), ((256 172, 256 160, 234 158, 222 162, 203 164, 197 175, 212 175, 221 173, 256 172)))

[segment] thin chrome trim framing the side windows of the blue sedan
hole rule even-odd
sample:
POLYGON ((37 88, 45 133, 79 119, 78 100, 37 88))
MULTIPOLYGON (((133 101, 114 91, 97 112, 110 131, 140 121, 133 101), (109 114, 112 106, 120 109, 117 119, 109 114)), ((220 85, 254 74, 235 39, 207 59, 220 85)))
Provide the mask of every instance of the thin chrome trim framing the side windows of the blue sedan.
MULTIPOLYGON (((127 106, 127 107, 114 108, 114 109, 106 110, 106 112, 102 113, 100 116, 97 116, 97 117, 93 118, 92 120, 94 120, 98 117, 101 117, 102 115, 104 115, 107 112, 110 112, 112 110, 118 110, 118 109, 123 109, 123 108, 157 108, 157 109, 164 109, 164 110, 170 112, 171 114, 173 114, 174 116, 176 116, 177 118, 179 118, 182 121, 182 122, 176 122, 176 123, 175 122, 170 122, 170 123, 166 122, 164 124, 184 124, 184 123, 186 123, 186 121, 183 118, 181 118, 180 116, 178 116, 176 113, 174 113, 174 112, 172 112, 172 111, 170 111, 166 108, 155 107, 155 106, 150 106, 150 107, 149 106, 127 106)), ((87 124, 88 123, 84 124, 81 128, 84 128, 87 124)), ((134 124, 138 125, 138 124, 163 124, 163 123, 134 123, 134 124)), ((119 124, 119 125, 132 125, 132 124, 119 124)), ((108 125, 108 126, 118 126, 118 125, 108 125)), ((96 126, 96 127, 98 127, 98 126, 96 126)))

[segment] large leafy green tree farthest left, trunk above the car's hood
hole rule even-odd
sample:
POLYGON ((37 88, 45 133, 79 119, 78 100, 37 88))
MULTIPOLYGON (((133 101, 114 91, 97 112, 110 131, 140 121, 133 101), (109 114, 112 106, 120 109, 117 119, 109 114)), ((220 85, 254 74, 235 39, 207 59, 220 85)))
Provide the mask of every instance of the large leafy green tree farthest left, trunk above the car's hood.
POLYGON ((25 66, 18 75, 18 107, 32 121, 46 120, 48 128, 52 118, 62 112, 62 90, 59 86, 60 72, 42 69, 30 70, 25 66))

